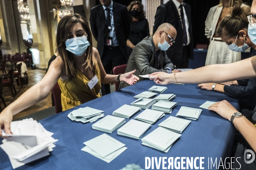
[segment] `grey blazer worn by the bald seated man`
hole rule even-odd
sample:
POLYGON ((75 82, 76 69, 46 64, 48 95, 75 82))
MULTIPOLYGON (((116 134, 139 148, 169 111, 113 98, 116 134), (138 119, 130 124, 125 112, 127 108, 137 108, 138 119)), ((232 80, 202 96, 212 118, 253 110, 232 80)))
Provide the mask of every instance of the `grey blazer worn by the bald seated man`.
MULTIPOLYGON (((163 71, 167 73, 167 71, 164 70, 164 68, 166 67, 174 69, 171 60, 166 56, 166 51, 160 50, 159 57, 159 67, 154 68, 155 46, 153 38, 149 36, 145 37, 144 40, 139 42, 131 52, 125 69, 125 73, 134 71, 136 69, 134 75, 139 77, 139 75, 151 74, 158 71, 163 71)), ((143 80, 142 77, 139 78, 139 81, 143 80)), ((120 88, 125 88, 126 86, 128 86, 127 83, 120 84, 120 88)))

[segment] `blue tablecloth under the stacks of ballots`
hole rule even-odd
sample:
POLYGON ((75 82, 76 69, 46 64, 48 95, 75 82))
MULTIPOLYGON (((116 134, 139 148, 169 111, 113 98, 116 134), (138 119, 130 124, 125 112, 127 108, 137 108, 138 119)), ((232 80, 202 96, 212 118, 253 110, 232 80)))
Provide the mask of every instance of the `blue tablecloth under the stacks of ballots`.
MULTIPOLYGON (((41 124, 47 130, 54 133, 53 137, 55 139, 58 139, 56 147, 53 148, 50 156, 26 164, 17 169, 119 170, 130 163, 139 164, 141 168, 145 169, 145 157, 158 158, 160 156, 166 156, 167 158, 175 158, 178 156, 194 158, 197 156, 205 157, 203 166, 207 169, 208 157, 211 157, 214 160, 217 158, 219 160, 221 157, 225 158, 226 156, 230 156, 236 132, 235 127, 228 120, 206 109, 203 109, 201 116, 197 121, 192 120, 191 124, 183 131, 180 139, 175 142, 168 153, 163 153, 159 150, 146 147, 141 144, 141 140, 119 136, 116 131, 112 134, 107 134, 126 144, 128 149, 111 163, 108 164, 105 161, 81 151, 81 148, 84 147, 83 142, 93 139, 103 132, 93 130, 93 123, 83 124, 81 122, 71 121, 67 118, 70 111, 80 107, 89 106, 91 108, 103 110, 105 115, 112 114, 112 112, 120 106, 124 104, 130 105, 131 102, 136 100, 133 96, 140 94, 143 91, 148 91, 153 85, 156 85, 153 81, 144 80, 135 86, 122 89, 123 92, 113 92, 68 111, 41 120, 41 124)), ((167 119, 169 116, 176 116, 181 106, 199 108, 199 106, 207 100, 221 101, 226 99, 239 110, 239 103, 236 99, 230 98, 219 92, 201 90, 196 84, 169 84, 166 85, 166 87, 168 87, 168 89, 163 94, 176 94, 177 97, 173 101, 177 102, 177 106, 172 111, 172 114, 166 114, 166 116, 153 124, 145 135, 156 129, 158 124, 163 122, 163 120, 167 119)), ((138 114, 139 113, 136 115, 138 114)), ((131 119, 134 119, 135 116, 131 119)), ((126 122, 128 121, 129 119, 126 119, 126 122)), ((197 161, 197 165, 199 166, 199 161, 197 161)), ((0 149, 0 169, 12 169, 9 158, 2 149, 0 149)))

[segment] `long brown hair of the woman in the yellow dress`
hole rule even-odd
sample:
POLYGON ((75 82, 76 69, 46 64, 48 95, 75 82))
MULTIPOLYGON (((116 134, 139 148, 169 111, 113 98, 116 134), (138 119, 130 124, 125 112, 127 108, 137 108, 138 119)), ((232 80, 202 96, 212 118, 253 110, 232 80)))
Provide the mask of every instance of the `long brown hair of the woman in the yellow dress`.
MULTIPOLYGON (((69 32, 76 23, 80 23, 87 33, 87 40, 90 45, 85 51, 85 61, 83 65, 86 65, 86 69, 89 69, 93 74, 95 74, 95 58, 93 53, 93 42, 92 33, 90 27, 84 17, 79 14, 72 14, 64 16, 58 23, 57 34, 56 34, 56 47, 58 49, 58 54, 61 56, 66 68, 66 74, 69 76, 68 80, 76 77, 76 65, 75 58, 70 51, 66 50, 65 41, 68 39, 69 32)), ((82 63, 81 63, 82 64, 82 63)))

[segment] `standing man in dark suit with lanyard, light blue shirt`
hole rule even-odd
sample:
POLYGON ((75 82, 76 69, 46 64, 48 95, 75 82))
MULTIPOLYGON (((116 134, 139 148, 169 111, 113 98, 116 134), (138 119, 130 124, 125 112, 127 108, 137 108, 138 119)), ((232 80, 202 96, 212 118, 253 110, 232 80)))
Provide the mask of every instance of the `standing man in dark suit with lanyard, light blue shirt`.
MULTIPOLYGON (((130 34, 127 7, 112 0, 99 0, 101 4, 90 10, 90 26, 97 49, 107 74, 112 67, 126 64, 126 41, 130 34)), ((102 84, 102 95, 110 93, 110 85, 102 84)))

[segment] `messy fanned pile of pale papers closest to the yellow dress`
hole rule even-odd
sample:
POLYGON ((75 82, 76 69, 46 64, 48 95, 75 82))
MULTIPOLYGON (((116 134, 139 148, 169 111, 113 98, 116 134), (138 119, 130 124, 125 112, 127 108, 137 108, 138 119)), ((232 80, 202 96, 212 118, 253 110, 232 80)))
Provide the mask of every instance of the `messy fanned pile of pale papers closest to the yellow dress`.
POLYGON ((67 115, 68 118, 70 118, 72 121, 76 122, 95 122, 99 118, 104 116, 103 111, 85 107, 85 108, 79 108, 67 115))

